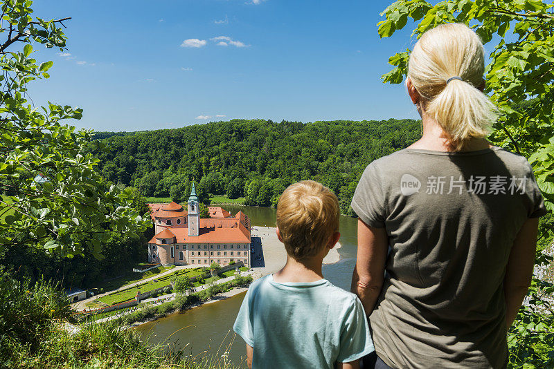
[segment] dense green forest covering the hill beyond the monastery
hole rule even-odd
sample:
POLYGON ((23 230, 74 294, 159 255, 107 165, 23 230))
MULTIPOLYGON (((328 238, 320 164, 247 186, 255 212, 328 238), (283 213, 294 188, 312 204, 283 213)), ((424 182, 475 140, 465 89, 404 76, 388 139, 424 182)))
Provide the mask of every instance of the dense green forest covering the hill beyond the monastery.
POLYGON ((354 215, 350 200, 366 165, 419 136, 419 121, 390 119, 231 120, 94 137, 109 147, 95 153, 102 176, 143 196, 184 201, 195 181, 201 201, 212 193, 272 206, 292 182, 313 179, 337 194, 344 214, 354 215))

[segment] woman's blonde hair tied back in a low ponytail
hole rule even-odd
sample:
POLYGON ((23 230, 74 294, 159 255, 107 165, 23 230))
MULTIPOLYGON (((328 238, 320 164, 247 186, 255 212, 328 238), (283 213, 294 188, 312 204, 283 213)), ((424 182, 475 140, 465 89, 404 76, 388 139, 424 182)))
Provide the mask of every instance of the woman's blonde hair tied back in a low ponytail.
POLYGON ((425 112, 458 150, 470 138, 486 137, 496 119, 494 104, 479 91, 484 70, 483 44, 462 23, 425 32, 410 55, 408 77, 425 99, 425 112))

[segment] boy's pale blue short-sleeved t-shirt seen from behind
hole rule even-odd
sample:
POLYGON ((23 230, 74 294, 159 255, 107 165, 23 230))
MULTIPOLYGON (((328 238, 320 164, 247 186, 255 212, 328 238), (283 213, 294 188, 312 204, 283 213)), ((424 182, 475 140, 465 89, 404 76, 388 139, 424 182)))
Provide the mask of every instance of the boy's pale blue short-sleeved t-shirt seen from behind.
POLYGON ((253 368, 334 368, 374 351, 364 308, 355 294, 326 279, 255 281, 233 330, 254 348, 253 368))

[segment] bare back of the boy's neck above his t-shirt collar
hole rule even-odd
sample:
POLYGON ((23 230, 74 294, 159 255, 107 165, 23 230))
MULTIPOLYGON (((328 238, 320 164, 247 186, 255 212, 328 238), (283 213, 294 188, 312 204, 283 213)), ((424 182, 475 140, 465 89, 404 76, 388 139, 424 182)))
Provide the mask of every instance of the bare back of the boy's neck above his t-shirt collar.
POLYGON ((306 258, 298 261, 287 255, 287 263, 273 275, 273 279, 279 283, 305 283, 316 282, 323 279, 321 264, 323 263, 321 255, 306 258))

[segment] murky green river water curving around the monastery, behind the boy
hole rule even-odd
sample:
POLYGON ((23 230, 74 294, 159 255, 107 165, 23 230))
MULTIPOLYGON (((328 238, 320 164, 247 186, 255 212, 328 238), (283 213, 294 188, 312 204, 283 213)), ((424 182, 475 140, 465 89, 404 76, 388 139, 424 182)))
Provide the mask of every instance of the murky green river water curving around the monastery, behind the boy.
MULTIPOLYGON (((232 205, 223 207, 231 214, 243 211, 249 216, 253 226, 275 227, 275 209, 232 205)), ((338 263, 323 265, 323 276, 345 290, 350 289, 350 278, 355 265, 356 229, 356 218, 341 216, 339 242, 342 247, 338 249, 341 260, 338 263)), ((150 343, 168 343, 174 350, 184 349, 186 354, 198 357, 213 355, 219 358, 224 352, 229 352, 229 359, 233 363, 244 363, 244 341, 237 336, 233 342, 232 327, 245 293, 145 323, 135 329, 143 338, 149 337, 150 343)))

